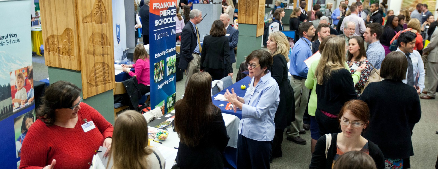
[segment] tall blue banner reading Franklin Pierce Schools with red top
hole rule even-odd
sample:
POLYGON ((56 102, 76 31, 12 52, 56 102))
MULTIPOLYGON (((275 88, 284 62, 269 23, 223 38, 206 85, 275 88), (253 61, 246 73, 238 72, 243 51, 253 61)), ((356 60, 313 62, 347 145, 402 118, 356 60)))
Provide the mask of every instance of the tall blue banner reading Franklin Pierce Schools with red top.
POLYGON ((176 6, 176 0, 151 0, 149 6, 151 108, 163 114, 174 109, 177 97, 176 6))

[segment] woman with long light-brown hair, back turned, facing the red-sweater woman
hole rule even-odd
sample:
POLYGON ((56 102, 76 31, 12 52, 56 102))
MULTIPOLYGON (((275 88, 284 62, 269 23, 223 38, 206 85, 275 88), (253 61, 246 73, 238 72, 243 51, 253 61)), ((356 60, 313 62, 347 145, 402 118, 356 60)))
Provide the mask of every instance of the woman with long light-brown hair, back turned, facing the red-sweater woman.
POLYGON ((117 117, 111 150, 107 169, 164 169, 165 159, 148 146, 148 123, 137 111, 117 117))

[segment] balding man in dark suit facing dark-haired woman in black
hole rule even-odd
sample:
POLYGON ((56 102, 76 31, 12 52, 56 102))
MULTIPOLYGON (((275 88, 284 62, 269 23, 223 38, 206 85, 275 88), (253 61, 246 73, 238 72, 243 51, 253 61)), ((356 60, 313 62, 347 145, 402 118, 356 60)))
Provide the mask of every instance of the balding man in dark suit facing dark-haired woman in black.
POLYGON ((226 34, 228 38, 228 45, 230 45, 230 59, 231 63, 236 62, 236 54, 234 53, 234 48, 237 46, 237 41, 239 41, 239 31, 236 28, 230 26, 230 15, 221 14, 219 19, 225 24, 226 34))

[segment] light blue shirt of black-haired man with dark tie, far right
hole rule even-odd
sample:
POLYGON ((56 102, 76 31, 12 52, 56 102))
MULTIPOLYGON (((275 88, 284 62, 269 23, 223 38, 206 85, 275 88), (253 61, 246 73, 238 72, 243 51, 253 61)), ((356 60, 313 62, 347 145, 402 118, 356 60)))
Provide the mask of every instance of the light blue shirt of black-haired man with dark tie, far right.
MULTIPOLYGON (((398 47, 397 47, 396 52, 402 52, 406 56, 406 53, 403 52, 402 50, 400 50, 398 47)), ((417 50, 413 50, 413 52, 410 53, 409 57, 411 58, 411 61, 412 61, 412 70, 413 70, 413 77, 411 77, 411 78, 413 78, 414 82, 415 82, 417 80, 417 78, 416 78, 417 73, 420 75, 418 77, 418 87, 420 87, 420 92, 422 92, 424 90, 424 77, 426 76, 426 74, 424 73, 423 59, 421 59, 420 52, 418 52, 417 50)), ((406 59, 407 59, 407 57, 406 57, 406 59)), ((408 71, 406 71, 406 79, 402 80, 403 83, 408 84, 407 78, 408 78, 408 71)))

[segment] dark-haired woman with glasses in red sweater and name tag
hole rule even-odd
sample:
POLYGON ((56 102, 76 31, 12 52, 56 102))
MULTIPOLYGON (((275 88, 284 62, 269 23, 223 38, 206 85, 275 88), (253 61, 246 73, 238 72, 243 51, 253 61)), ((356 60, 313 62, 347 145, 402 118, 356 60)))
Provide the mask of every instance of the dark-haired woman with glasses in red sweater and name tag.
POLYGON ((21 146, 20 169, 88 169, 99 146, 108 148, 113 125, 82 102, 81 89, 58 81, 47 87, 38 119, 21 146))

